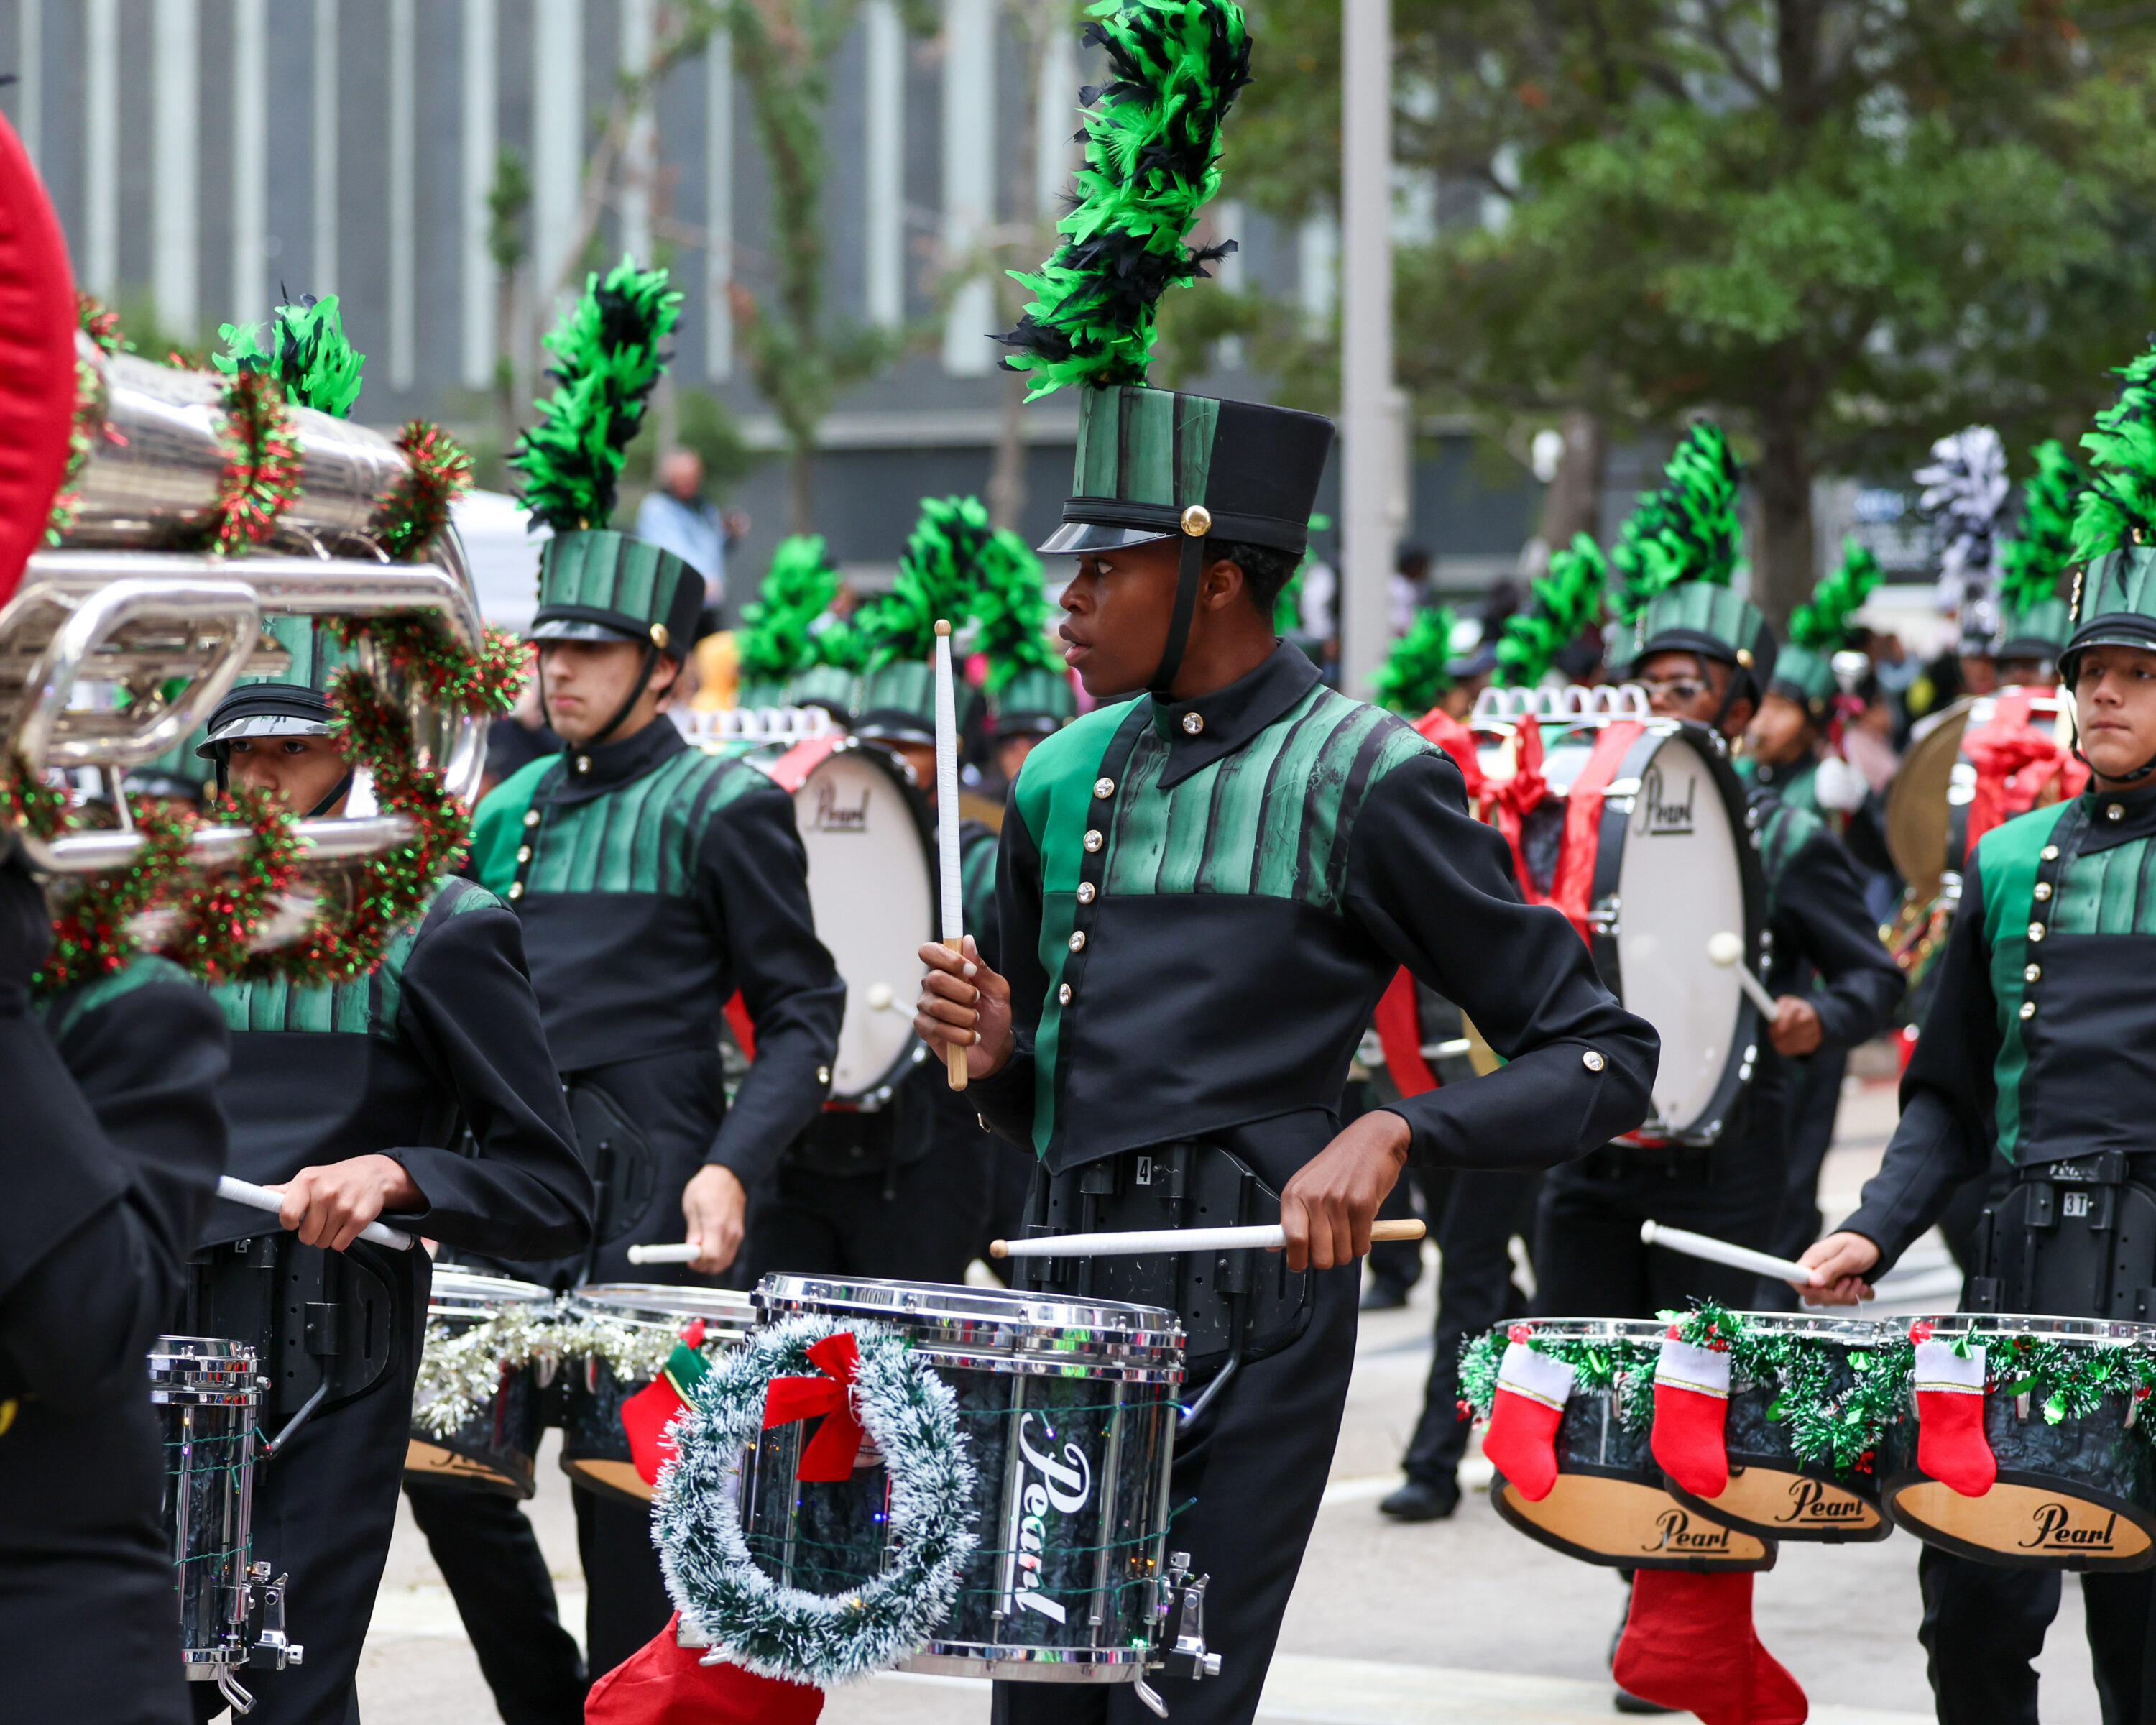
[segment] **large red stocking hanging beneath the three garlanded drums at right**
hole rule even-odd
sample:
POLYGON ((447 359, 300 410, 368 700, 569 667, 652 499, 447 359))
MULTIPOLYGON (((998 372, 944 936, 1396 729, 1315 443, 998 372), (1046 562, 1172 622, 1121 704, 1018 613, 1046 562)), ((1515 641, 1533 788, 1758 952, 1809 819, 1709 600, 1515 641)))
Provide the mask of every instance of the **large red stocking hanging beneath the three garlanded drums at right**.
POLYGON ((1611 1675, 1708 1725, 1802 1725, 1809 1706, 1751 1619, 1751 1572, 1639 1570, 1611 1675))

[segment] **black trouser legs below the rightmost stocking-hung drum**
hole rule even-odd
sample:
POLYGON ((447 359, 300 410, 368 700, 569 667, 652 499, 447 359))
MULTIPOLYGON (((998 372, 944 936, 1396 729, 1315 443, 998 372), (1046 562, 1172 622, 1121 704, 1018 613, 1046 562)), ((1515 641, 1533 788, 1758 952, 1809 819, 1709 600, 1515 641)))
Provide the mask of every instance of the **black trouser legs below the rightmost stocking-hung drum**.
MULTIPOLYGON (((2037 1725, 2031 1660, 2059 1615, 2057 1570, 1999 1570, 1923 1548, 1923 1628, 1938 1725, 2037 1725)), ((2104 1725, 2156 1721, 2156 1574, 2081 1578, 2104 1725)))

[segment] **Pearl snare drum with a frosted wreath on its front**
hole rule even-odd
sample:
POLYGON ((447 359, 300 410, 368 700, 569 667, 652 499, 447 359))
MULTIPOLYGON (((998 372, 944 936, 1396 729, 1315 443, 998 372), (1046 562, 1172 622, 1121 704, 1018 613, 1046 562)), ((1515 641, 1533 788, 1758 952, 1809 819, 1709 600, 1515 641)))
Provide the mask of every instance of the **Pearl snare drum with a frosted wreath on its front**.
MULTIPOLYGON (((817 1313, 903 1333, 957 1395, 981 1544, 957 1604, 908 1671, 1138 1682, 1171 1602, 1169 1460, 1184 1339, 1175 1313, 940 1283, 765 1276, 768 1320, 817 1313), (1022 1568, 1020 1555, 1039 1555, 1022 1568)), ((884 1568, 888 1477, 802 1486, 806 1423, 742 1464, 742 1529, 768 1574, 813 1593, 884 1568)))

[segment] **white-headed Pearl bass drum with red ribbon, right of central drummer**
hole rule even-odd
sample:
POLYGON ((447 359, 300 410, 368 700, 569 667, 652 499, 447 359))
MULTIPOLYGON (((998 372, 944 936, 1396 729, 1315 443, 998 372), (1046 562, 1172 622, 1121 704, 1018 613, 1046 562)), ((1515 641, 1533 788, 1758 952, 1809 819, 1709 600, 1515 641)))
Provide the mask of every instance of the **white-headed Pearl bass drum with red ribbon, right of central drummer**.
POLYGON ((1600 753, 1602 819, 1595 828, 1587 923, 1608 990, 1654 1024, 1662 1059, 1645 1143, 1714 1143, 1751 1080, 1759 1009, 1736 968, 1708 957, 1723 932, 1744 936, 1764 970, 1766 875, 1744 785, 1712 733, 1675 718, 1636 727, 1611 761, 1613 727, 1580 727, 1548 744, 1542 772, 1572 791, 1600 753))

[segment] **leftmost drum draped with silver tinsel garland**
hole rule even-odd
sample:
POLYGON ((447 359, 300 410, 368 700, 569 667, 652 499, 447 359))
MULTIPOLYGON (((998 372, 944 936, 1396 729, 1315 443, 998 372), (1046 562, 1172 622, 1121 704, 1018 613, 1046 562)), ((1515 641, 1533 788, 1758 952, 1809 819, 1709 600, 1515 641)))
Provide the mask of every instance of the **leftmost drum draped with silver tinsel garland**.
MULTIPOLYGON (((552 1376, 530 1361, 502 1361, 494 1393, 448 1432, 438 1432, 429 1408, 444 1393, 429 1384, 429 1365, 442 1350, 481 1326, 522 1313, 539 1317, 554 1294, 537 1283, 489 1276, 479 1270, 436 1266, 427 1298, 427 1352, 412 1395, 412 1438, 405 1445, 405 1477, 474 1486, 502 1496, 530 1496, 535 1458, 545 1430, 545 1386, 552 1376)), ((474 1343, 476 1346, 476 1343, 474 1343)))

